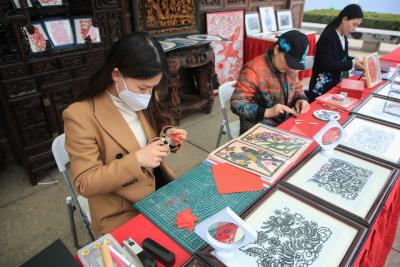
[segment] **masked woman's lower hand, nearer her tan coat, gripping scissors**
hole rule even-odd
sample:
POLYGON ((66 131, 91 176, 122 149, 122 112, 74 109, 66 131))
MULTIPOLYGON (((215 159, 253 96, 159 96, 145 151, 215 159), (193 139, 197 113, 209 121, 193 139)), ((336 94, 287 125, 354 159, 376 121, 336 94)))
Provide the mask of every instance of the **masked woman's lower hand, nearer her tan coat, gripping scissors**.
POLYGON ((156 168, 160 166, 164 157, 168 156, 169 147, 161 140, 156 140, 136 151, 136 158, 140 166, 145 168, 156 168))

